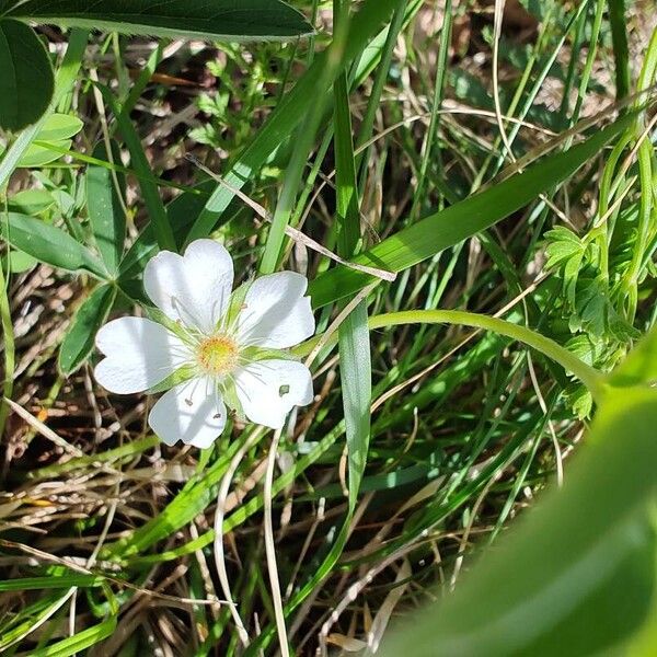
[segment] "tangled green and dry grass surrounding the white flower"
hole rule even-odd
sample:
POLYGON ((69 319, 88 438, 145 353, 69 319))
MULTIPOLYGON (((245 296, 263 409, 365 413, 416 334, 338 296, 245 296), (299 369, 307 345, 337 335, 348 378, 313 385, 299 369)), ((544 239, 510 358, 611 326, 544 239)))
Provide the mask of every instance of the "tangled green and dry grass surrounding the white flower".
POLYGON ((33 416, 0 411, 9 655, 275 655, 284 636, 290 654, 362 648, 458 591, 471 556, 568 481, 603 399, 598 372, 657 319, 649 9, 530 2, 527 26, 506 14, 495 45, 472 1, 448 20, 422 0, 293 4, 315 18, 312 38, 198 59, 72 31, 51 106, 84 119, 70 155, 55 142, 58 159, 16 170, 38 126, 0 135, 1 378, 33 416), (636 79, 629 35, 645 51, 636 79), (171 81, 203 80, 208 58, 217 89, 171 81), (118 162, 96 149, 110 137, 118 162), (113 219, 89 211, 88 171, 113 219), (27 188, 53 204, 25 217, 11 204, 27 188), (99 253, 122 220, 126 244, 99 253), (288 227, 396 278, 335 265, 288 227), (291 268, 311 281, 323 337, 298 355, 312 355, 318 397, 275 463, 272 433, 249 425, 204 452, 166 448, 146 429, 152 400, 91 378, 89 326, 107 300, 130 312, 148 258, 207 235, 242 279, 291 268), (21 272, 19 251, 56 268, 21 272))

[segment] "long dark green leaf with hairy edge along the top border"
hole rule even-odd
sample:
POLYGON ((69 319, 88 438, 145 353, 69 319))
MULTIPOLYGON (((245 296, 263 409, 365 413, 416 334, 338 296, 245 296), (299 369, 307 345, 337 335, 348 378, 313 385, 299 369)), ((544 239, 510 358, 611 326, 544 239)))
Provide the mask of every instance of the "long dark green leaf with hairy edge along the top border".
POLYGON ((258 41, 312 32, 281 0, 0 0, 0 15, 161 37, 258 41))

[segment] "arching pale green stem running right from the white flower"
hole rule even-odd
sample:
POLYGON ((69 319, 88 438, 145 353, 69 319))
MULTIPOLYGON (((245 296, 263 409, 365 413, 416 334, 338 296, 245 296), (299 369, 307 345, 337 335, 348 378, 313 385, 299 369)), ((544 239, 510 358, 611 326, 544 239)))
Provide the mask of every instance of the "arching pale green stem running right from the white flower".
MULTIPOLYGON (((602 374, 598 370, 584 362, 553 339, 526 326, 461 310, 408 310, 404 312, 391 312, 370 318, 368 322, 370 331, 402 324, 454 324, 493 331, 494 333, 521 342, 558 362, 565 370, 575 374, 589 389, 593 397, 599 395, 602 388, 602 374)), ((321 337, 321 335, 315 336, 304 342, 293 353, 300 357, 306 356, 321 337)), ((335 338, 332 337, 328 344, 333 344, 334 342, 335 338)))

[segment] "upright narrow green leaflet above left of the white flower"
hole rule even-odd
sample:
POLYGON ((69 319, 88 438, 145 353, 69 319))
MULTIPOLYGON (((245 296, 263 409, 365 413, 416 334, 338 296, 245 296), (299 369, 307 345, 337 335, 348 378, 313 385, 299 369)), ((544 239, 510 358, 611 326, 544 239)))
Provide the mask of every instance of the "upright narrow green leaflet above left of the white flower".
MULTIPOLYGON (((120 163, 118 145, 112 142, 113 161, 120 163)), ((99 143, 93 157, 107 161, 104 143, 99 143)), ((105 166, 91 165, 87 171, 87 208, 93 237, 103 262, 111 274, 118 272, 126 240, 125 198, 126 178, 105 166), (118 185, 118 188, 117 188, 118 185)))

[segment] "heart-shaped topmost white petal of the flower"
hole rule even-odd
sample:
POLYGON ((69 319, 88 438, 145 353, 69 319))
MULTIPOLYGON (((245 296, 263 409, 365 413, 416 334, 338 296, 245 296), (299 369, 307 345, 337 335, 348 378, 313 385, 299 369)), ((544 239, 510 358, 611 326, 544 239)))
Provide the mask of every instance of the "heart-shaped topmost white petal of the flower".
POLYGON ((212 240, 196 240, 185 255, 162 251, 146 265, 143 288, 172 320, 210 333, 223 316, 233 281, 228 251, 212 240))

